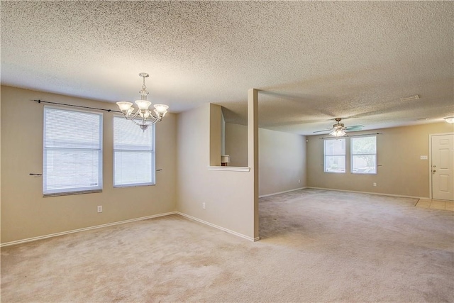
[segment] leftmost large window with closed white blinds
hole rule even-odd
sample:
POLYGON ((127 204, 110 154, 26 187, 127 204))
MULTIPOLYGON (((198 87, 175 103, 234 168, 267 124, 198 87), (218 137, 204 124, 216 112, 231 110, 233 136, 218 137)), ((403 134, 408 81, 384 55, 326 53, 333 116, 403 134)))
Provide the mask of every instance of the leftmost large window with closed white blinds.
POLYGON ((43 194, 100 192, 102 114, 44 107, 43 194))

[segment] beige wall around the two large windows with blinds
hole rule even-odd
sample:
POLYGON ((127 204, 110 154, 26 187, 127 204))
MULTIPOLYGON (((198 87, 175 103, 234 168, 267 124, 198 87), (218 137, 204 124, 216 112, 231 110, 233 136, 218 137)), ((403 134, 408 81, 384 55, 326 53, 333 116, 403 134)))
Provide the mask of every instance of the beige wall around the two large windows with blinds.
POLYGON ((28 175, 43 172, 43 104, 33 99, 116 110, 116 104, 1 87, 1 243, 176 210, 176 115, 156 127, 162 172, 155 186, 112 186, 113 113, 103 112, 103 192, 43 198, 42 178, 28 175))

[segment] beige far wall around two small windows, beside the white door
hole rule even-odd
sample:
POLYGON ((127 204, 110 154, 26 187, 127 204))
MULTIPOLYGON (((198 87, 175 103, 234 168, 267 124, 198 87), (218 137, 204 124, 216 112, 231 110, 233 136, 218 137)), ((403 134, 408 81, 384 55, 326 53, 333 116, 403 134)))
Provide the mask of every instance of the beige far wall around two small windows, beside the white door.
POLYGON ((350 140, 347 138, 347 172, 323 172, 323 136, 308 136, 307 186, 343 189, 358 192, 376 192, 411 197, 429 197, 429 161, 420 160, 429 155, 429 134, 452 133, 454 125, 441 122, 419 126, 384 128, 360 133, 377 135, 377 175, 350 173, 350 140), (377 187, 372 183, 376 182, 377 187))

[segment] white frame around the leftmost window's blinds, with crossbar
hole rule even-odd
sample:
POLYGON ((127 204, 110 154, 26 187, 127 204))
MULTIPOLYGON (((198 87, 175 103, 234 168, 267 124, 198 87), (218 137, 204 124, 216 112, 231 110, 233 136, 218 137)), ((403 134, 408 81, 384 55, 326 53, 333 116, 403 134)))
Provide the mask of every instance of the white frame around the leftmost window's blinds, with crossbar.
MULTIPOLYGON (((43 107, 43 197, 53 197, 53 196, 65 196, 71 194, 88 194, 94 192, 102 192, 103 189, 103 114, 95 111, 81 111, 77 109, 63 109, 57 106, 44 106, 43 107), (99 118, 99 142, 98 148, 87 148, 87 147, 68 147, 65 145, 61 145, 60 147, 50 147, 47 145, 48 143, 48 134, 47 132, 47 119, 46 115, 49 114, 48 111, 70 111, 72 113, 83 113, 83 114, 90 114, 93 116, 98 116, 99 118), (97 175, 97 184, 96 186, 88 186, 88 187, 78 187, 77 184, 72 187, 65 187, 60 189, 49 189, 49 180, 48 176, 50 173, 48 172, 48 153, 51 151, 61 151, 67 150, 72 152, 77 151, 87 151, 92 150, 96 151, 98 154, 98 175, 97 175)), ((56 126, 58 129, 58 126, 56 126)), ((54 143, 55 144, 55 143, 54 143)))

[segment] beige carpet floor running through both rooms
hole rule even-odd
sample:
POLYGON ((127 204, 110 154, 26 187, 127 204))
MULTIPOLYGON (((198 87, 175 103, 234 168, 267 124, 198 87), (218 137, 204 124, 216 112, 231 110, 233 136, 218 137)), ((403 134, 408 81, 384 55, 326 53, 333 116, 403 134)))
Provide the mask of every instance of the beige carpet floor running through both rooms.
POLYGON ((454 302, 454 212, 302 189, 258 242, 172 215, 1 248, 1 302, 454 302))

